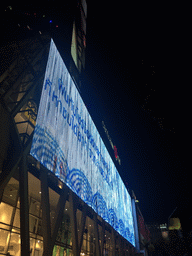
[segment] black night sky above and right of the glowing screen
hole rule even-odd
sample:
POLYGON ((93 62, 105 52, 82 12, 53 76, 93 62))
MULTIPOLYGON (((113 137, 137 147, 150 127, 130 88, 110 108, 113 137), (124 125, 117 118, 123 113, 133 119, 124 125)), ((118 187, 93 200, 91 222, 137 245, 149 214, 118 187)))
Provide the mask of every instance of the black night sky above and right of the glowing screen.
MULTIPOLYGON (((57 1, 5 6, 2 13, 1 25, 9 28, 4 43, 12 39, 11 27, 22 33, 25 26, 30 36, 38 24, 43 33, 50 20, 64 40, 57 1), (32 32, 27 25, 34 25, 32 32)), ((82 97, 115 161, 104 121, 121 159, 116 167, 146 222, 167 222, 175 207, 191 200, 188 17, 176 5, 88 2, 82 97)))

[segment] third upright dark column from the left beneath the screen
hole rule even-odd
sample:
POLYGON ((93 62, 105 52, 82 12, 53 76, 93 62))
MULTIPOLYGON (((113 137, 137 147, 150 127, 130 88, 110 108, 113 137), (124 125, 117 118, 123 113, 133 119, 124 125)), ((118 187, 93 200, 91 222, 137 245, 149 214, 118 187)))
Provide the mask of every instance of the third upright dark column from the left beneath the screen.
POLYGON ((76 212, 77 212, 77 205, 74 200, 73 192, 69 192, 69 204, 70 204, 70 210, 71 210, 71 225, 72 225, 72 249, 73 249, 73 255, 79 256, 79 248, 78 248, 78 234, 77 234, 77 218, 76 218, 76 212))

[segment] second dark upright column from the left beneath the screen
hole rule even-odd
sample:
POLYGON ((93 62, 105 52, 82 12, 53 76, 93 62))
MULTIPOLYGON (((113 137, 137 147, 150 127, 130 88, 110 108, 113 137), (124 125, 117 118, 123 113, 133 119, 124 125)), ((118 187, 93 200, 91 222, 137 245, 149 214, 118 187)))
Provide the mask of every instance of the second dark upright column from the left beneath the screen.
POLYGON ((43 256, 48 256, 50 242, 51 242, 49 187, 48 187, 47 172, 45 170, 40 170, 40 172, 41 172, 40 180, 41 180, 43 256))

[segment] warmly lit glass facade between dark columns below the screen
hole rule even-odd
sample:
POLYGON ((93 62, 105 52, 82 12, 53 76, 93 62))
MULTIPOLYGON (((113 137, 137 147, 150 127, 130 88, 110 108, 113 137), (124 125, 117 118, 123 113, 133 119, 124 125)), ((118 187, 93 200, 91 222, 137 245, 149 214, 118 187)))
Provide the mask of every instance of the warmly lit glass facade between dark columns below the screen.
MULTIPOLYGON (((28 172, 28 200, 30 255, 41 256, 43 254, 41 182, 30 172, 28 172)), ((58 200, 59 194, 49 187, 51 228, 55 218, 58 200)), ((70 216, 70 203, 66 201, 62 222, 53 248, 53 256, 73 255, 72 223, 70 216)), ((82 209, 78 208, 76 211, 78 233, 81 229, 81 218, 82 209)), ((97 216, 97 220, 102 223, 102 219, 99 216, 97 216)), ((96 256, 96 235, 94 226, 93 218, 86 216, 80 255, 96 256)), ((105 229, 103 233, 102 225, 98 225, 98 236, 100 247, 103 243, 103 255, 112 256, 114 245, 112 243, 111 229, 105 229)), ((118 246, 116 246, 116 248, 118 248, 118 246)), ((21 254, 19 181, 13 177, 4 190, 0 204, 0 255, 6 255, 8 252, 10 255, 16 256, 21 254)))

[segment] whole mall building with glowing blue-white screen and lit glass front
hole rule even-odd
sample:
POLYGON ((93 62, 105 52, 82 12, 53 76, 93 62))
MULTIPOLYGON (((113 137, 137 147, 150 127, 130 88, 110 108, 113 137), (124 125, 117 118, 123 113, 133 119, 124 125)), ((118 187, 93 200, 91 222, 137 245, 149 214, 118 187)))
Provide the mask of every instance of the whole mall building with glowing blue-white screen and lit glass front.
POLYGON ((135 199, 78 89, 85 31, 77 20, 67 66, 39 34, 16 43, 0 76, 0 255, 139 252, 135 199))

